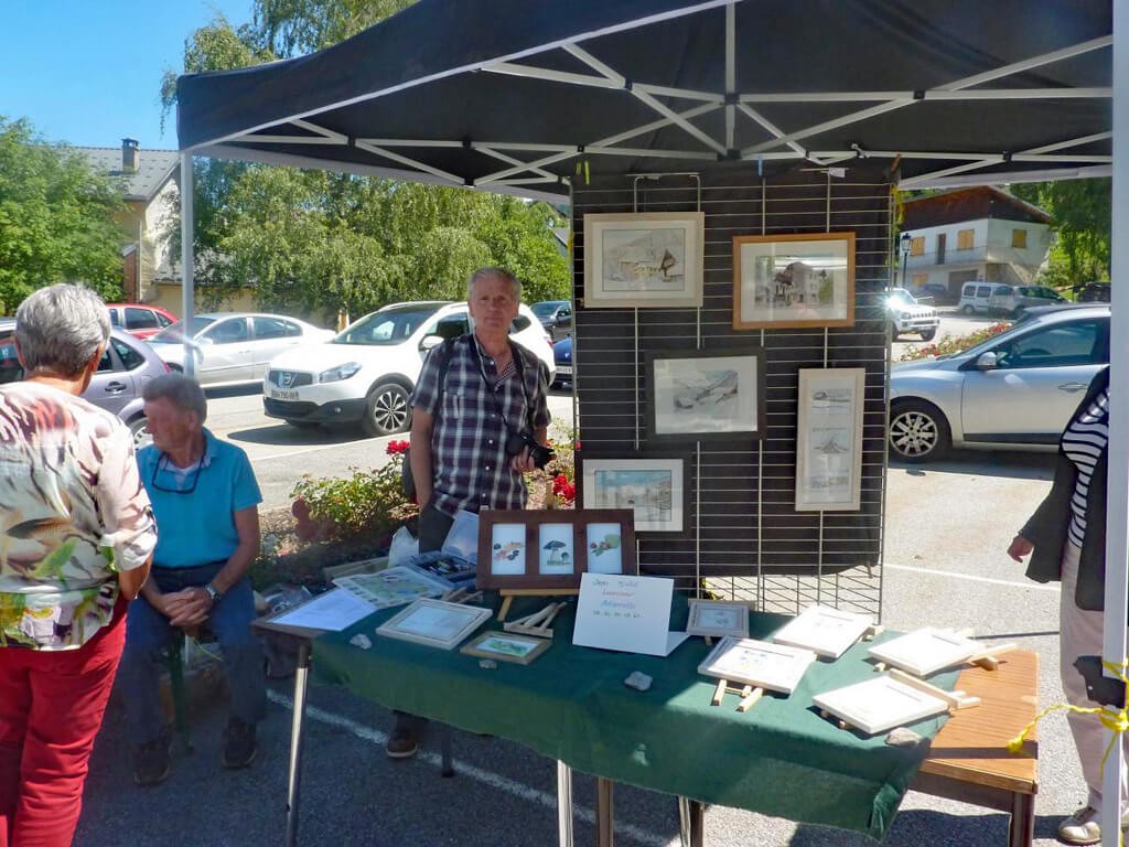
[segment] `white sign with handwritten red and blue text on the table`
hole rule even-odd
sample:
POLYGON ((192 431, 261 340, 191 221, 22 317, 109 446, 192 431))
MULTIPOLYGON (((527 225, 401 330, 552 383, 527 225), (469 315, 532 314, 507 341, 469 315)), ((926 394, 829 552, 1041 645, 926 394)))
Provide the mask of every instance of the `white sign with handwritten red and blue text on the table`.
POLYGON ((686 640, 671 632, 674 582, 657 576, 586 573, 580 577, 572 644, 668 656, 686 640))

